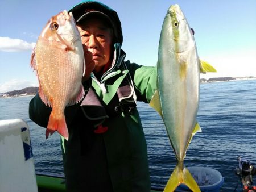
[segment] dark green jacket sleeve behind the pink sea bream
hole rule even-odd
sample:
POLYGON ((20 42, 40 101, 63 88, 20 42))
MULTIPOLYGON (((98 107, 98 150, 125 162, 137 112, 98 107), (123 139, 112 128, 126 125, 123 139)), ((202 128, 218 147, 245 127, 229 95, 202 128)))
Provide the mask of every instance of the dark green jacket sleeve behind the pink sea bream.
MULTIPOLYGON (((85 95, 88 93, 90 84, 92 80, 88 80, 83 83, 85 95)), ((68 106, 65 108, 65 119, 67 126, 72 122, 72 119, 76 115, 76 111, 79 109, 81 102, 76 105, 68 106)), ((34 98, 31 99, 29 105, 29 116, 30 119, 41 127, 47 127, 49 115, 51 114, 52 108, 44 104, 40 99, 39 94, 36 94, 34 98)))

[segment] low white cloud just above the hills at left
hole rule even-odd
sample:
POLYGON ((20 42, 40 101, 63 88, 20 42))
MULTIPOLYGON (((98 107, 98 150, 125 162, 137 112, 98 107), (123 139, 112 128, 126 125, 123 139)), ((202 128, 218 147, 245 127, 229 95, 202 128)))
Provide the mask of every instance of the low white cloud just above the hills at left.
POLYGON ((26 87, 38 86, 38 83, 27 80, 13 79, 3 84, 0 84, 0 93, 6 93, 8 91, 20 90, 26 87))

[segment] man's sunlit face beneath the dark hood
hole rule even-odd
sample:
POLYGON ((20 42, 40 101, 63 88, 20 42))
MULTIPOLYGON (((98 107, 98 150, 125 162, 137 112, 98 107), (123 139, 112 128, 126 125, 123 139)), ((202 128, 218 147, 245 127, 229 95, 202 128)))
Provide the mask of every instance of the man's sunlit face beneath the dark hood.
POLYGON ((100 72, 112 56, 112 30, 100 19, 88 19, 79 23, 86 65, 95 64, 94 70, 100 72))

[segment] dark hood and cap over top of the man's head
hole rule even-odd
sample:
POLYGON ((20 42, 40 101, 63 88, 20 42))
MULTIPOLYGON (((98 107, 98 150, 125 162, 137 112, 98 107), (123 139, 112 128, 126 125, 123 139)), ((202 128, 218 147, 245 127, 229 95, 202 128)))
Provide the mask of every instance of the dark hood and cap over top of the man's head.
POLYGON ((76 23, 81 22, 81 20, 84 20, 89 16, 101 16, 102 18, 105 18, 109 22, 109 26, 113 28, 115 43, 122 44, 123 35, 121 22, 117 12, 110 7, 97 1, 82 1, 68 12, 72 12, 76 23))

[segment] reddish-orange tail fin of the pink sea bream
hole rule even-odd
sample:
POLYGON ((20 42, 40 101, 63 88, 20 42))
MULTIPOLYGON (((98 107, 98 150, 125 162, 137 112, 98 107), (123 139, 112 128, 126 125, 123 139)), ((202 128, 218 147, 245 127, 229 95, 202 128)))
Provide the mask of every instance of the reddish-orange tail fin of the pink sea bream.
POLYGON ((60 135, 68 140, 68 127, 64 114, 56 115, 55 111, 52 110, 46 129, 46 139, 48 139, 49 135, 52 135, 55 131, 59 132, 60 135))

